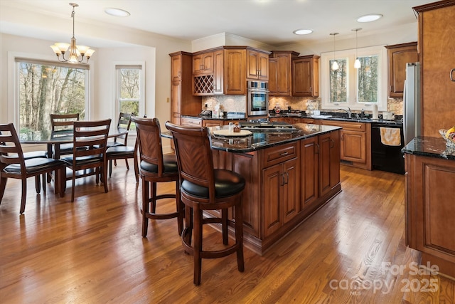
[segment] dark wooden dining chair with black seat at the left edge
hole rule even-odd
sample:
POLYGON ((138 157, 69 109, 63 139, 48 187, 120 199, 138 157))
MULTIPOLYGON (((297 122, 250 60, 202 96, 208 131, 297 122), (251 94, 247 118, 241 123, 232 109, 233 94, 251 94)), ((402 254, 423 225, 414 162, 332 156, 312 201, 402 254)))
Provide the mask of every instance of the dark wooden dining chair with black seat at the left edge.
MULTIPOLYGON (((7 179, 21 179, 22 193, 19 213, 23 214, 26 207, 28 177, 35 177, 36 192, 39 193, 41 192, 38 187, 40 175, 43 175, 44 180, 45 174, 53 171, 55 171, 55 193, 59 193, 60 197, 63 197, 65 164, 60 159, 24 157, 14 125, 12 123, 0 125, 0 203, 4 196, 7 179)), ((45 184, 43 184, 43 192, 45 192, 45 184)))

